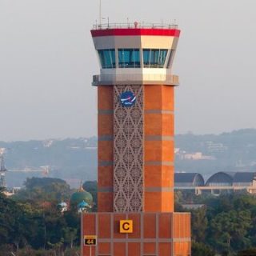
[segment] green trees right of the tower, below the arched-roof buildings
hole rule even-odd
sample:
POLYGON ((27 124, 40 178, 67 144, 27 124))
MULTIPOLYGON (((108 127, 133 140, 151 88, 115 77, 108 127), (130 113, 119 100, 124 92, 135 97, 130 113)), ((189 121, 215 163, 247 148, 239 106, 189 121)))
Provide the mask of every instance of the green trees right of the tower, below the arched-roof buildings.
POLYGON ((256 255, 255 195, 195 196, 178 191, 176 210, 191 212, 192 255, 256 255), (187 202, 198 204, 198 209, 183 208, 187 202))

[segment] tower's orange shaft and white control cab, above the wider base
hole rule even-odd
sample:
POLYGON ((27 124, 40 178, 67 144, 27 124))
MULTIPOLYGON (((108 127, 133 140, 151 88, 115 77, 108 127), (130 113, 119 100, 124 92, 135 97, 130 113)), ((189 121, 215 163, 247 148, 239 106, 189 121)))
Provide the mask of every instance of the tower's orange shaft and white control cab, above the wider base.
POLYGON ((98 86, 98 211, 174 211, 174 86, 179 30, 92 30, 98 86), (122 105, 130 92, 134 104, 122 105))

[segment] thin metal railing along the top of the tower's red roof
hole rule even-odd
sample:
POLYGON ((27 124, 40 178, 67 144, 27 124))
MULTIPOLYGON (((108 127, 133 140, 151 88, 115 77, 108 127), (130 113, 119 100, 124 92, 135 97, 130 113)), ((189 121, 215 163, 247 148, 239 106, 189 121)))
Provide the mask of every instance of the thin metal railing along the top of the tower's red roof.
POLYGON ((145 22, 126 22, 126 23, 104 23, 94 24, 93 30, 109 30, 109 29, 178 29, 178 25, 163 23, 145 23, 145 22))

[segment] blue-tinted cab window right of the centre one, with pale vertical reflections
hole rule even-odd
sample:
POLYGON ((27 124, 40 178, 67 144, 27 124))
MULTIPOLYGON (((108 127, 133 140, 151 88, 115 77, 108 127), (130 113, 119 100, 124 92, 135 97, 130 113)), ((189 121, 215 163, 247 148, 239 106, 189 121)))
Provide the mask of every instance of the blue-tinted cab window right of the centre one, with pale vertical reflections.
POLYGON ((144 67, 164 67, 168 50, 166 49, 143 49, 144 67))

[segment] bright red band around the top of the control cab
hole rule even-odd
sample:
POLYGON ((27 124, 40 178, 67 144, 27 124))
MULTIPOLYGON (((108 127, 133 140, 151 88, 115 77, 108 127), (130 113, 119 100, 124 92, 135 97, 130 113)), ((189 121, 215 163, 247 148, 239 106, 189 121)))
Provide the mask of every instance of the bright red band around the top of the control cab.
POLYGON ((104 29, 104 30, 90 30, 93 38, 106 36, 134 36, 134 35, 156 35, 156 36, 170 36, 179 37, 181 30, 177 29, 104 29))

